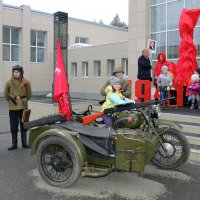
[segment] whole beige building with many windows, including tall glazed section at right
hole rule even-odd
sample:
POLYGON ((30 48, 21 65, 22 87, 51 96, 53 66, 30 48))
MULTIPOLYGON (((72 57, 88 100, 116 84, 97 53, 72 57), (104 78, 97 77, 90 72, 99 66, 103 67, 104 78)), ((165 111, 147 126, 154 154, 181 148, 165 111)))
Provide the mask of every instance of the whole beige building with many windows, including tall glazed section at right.
MULTIPOLYGON (((101 99, 100 88, 114 67, 122 66, 127 79, 137 79, 137 60, 148 39, 156 40, 156 53, 178 61, 178 23, 183 8, 200 8, 199 0, 129 0, 129 29, 69 18, 68 79, 71 97, 101 99), (74 45, 77 44, 77 45, 74 45), (84 45, 83 45, 84 44, 84 45)), ((15 64, 24 66, 34 94, 46 94, 53 79, 53 15, 13 7, 0 0, 0 96, 15 64)), ((194 31, 200 64, 200 20, 194 31)), ((134 98, 134 90, 133 96, 134 98)))

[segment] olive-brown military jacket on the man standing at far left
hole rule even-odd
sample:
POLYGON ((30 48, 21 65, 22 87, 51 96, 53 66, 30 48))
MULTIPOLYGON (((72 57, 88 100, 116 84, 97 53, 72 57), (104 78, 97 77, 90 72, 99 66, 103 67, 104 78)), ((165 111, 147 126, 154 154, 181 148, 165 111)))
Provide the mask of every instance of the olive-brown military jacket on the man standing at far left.
POLYGON ((28 100, 32 95, 31 84, 25 78, 15 79, 12 78, 6 82, 4 96, 8 101, 9 110, 21 110, 28 108, 28 100), (15 105, 9 94, 15 97, 17 105, 15 105))

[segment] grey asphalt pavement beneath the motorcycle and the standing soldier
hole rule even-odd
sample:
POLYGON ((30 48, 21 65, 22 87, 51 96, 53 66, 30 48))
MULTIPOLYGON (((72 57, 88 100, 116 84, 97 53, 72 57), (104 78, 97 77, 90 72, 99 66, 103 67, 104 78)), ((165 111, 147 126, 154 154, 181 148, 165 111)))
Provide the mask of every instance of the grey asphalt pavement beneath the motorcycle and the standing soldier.
POLYGON ((177 170, 150 164, 140 175, 114 172, 102 178, 80 177, 72 187, 60 189, 43 181, 30 150, 19 143, 17 150, 8 151, 10 145, 8 109, 0 99, 0 200, 198 200, 200 196, 199 162, 188 161, 177 170))

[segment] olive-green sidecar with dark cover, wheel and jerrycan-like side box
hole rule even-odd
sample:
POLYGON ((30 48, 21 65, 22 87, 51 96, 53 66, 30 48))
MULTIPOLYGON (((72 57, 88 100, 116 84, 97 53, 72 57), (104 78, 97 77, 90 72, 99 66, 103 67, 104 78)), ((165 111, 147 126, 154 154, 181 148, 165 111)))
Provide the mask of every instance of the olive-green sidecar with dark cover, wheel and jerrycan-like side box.
POLYGON ((154 135, 137 129, 83 126, 71 120, 33 128, 29 144, 44 180, 66 188, 80 176, 142 172, 154 156, 158 141, 154 135))

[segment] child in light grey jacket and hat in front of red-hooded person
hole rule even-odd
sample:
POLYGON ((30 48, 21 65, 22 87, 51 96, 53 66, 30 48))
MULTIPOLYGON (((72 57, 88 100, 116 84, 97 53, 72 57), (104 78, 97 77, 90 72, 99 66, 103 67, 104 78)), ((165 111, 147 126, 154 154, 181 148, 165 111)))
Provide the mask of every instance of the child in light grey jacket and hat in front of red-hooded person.
POLYGON ((162 74, 158 76, 157 85, 158 87, 160 87, 160 100, 162 101, 161 105, 163 106, 163 108, 165 105, 165 109, 168 109, 168 100, 164 99, 168 99, 168 93, 170 91, 170 87, 172 86, 172 78, 168 74, 167 66, 162 66, 161 71, 162 74))

